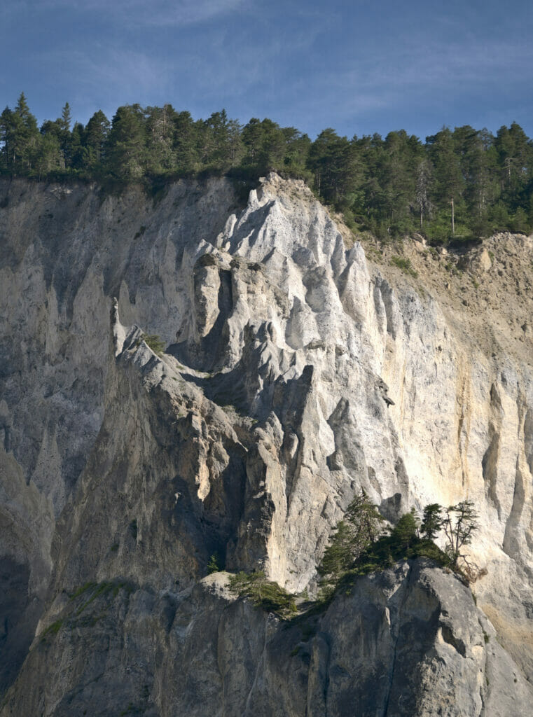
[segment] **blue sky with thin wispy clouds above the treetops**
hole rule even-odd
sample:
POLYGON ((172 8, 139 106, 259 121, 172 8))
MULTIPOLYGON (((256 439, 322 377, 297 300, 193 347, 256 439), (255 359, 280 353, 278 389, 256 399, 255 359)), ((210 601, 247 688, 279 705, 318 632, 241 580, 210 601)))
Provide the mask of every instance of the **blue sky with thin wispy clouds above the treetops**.
POLYGON ((118 105, 225 108, 316 136, 443 125, 533 136, 533 3, 1 0, 0 105, 86 122, 118 105))

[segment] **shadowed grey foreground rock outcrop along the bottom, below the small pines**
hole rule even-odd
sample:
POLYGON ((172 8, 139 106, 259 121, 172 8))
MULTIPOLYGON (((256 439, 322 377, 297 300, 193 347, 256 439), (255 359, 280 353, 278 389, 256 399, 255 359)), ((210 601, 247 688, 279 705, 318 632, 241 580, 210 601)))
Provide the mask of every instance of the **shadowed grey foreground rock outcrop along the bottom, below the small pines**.
POLYGON ((3 714, 527 713, 529 686, 468 588, 423 561, 361 578, 291 625, 235 602, 224 581, 181 593, 109 583, 67 600, 3 714))

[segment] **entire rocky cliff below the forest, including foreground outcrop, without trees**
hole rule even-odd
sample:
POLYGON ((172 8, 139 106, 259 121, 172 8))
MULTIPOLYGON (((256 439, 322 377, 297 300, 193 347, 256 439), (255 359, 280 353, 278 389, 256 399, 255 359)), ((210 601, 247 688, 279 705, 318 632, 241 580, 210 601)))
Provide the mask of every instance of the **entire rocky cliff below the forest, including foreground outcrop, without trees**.
POLYGON ((245 209, 224 179, 4 182, 0 206, 2 716, 521 713, 532 239, 457 266, 413 242, 406 275, 276 176, 245 209), (415 563, 303 640, 202 581, 217 553, 312 594, 360 488, 391 521, 476 503, 483 613, 415 563))

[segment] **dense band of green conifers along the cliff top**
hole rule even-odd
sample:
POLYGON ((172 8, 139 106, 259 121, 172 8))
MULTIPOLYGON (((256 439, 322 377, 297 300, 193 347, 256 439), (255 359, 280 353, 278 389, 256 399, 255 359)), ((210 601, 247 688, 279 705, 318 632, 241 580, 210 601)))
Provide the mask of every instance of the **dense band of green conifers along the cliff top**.
POLYGON ((161 181, 199 173, 305 179, 354 229, 382 239, 420 232, 433 243, 533 229, 533 142, 517 124, 496 136, 469 125, 425 143, 405 130, 382 138, 315 141, 269 119, 246 125, 225 110, 207 120, 171 105, 100 110, 72 123, 68 103, 39 128, 24 94, 0 115, 0 174, 35 179, 161 181))

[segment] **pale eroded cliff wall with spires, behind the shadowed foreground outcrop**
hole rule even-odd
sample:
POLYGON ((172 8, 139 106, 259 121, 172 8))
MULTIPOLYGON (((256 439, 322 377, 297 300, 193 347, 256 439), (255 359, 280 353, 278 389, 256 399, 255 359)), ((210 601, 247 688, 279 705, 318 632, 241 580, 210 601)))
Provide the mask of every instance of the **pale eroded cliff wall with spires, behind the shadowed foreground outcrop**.
POLYGON ((222 179, 0 200, 0 556, 42 625, 63 589, 187 589, 213 552, 312 592, 360 488, 391 521, 469 498, 478 605, 533 680, 531 238, 463 273, 407 246, 413 277, 275 175, 243 210, 222 179))

